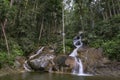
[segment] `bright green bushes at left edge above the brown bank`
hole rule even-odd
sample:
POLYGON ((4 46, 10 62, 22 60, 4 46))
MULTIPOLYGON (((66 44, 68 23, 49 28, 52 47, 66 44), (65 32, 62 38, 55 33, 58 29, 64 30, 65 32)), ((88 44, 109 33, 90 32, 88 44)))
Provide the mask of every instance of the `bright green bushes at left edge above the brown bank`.
POLYGON ((4 67, 6 64, 8 66, 12 66, 14 64, 14 60, 16 56, 22 56, 23 51, 22 48, 15 43, 15 41, 9 42, 10 44, 10 52, 11 54, 8 55, 6 51, 0 50, 0 66, 4 67))

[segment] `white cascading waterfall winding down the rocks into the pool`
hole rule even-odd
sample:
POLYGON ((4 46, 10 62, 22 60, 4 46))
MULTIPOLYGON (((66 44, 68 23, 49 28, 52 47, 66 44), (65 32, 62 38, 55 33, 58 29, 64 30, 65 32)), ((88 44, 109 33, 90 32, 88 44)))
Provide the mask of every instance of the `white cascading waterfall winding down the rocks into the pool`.
POLYGON ((82 40, 81 40, 81 34, 79 36, 76 36, 73 40, 73 44, 74 46, 76 47, 73 52, 69 55, 69 56, 72 56, 75 58, 75 67, 74 69, 72 70, 72 73, 73 74, 76 74, 76 75, 83 75, 83 65, 82 65, 82 61, 80 58, 77 58, 77 50, 79 48, 81 48, 83 46, 83 43, 82 43, 82 40))

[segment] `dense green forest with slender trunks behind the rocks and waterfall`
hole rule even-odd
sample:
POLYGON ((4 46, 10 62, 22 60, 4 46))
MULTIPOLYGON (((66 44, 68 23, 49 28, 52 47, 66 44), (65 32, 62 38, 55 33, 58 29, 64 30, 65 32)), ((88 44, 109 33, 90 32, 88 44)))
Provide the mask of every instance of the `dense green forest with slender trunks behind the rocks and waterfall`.
POLYGON ((63 54, 63 21, 66 54, 83 31, 84 45, 120 61, 120 0, 0 0, 0 67, 40 46, 63 54))

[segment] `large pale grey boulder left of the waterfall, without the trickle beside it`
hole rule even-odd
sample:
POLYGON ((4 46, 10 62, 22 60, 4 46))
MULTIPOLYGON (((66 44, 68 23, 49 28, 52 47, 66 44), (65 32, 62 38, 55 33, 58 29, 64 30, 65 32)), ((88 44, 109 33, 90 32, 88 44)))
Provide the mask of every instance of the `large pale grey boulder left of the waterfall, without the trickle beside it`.
POLYGON ((28 60, 28 64, 35 71, 44 71, 48 69, 48 66, 50 67, 50 64, 51 65, 53 64, 52 60, 54 59, 54 57, 55 56, 52 54, 45 54, 45 55, 43 54, 36 59, 28 60))

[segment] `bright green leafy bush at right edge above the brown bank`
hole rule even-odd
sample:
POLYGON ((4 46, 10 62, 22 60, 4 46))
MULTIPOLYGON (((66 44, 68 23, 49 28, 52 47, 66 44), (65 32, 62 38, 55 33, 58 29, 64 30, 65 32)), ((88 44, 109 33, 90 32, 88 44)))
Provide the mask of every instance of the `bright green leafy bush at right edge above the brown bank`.
POLYGON ((107 55, 112 60, 120 61, 120 40, 109 40, 103 43, 103 48, 105 50, 105 55, 107 55))

